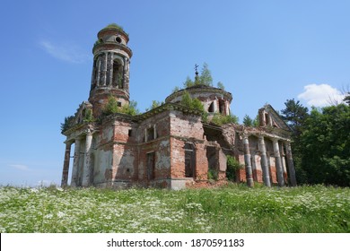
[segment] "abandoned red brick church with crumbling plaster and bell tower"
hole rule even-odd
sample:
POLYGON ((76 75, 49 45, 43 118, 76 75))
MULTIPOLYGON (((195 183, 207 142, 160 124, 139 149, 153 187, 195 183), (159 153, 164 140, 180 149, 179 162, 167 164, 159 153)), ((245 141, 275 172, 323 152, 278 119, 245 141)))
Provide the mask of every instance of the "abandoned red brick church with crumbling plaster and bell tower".
POLYGON ((128 40, 117 25, 98 33, 89 100, 66 117, 62 129, 66 152, 61 186, 208 186, 226 180, 229 155, 241 163, 238 182, 296 185, 290 129, 270 105, 258 110, 258 126, 213 125, 210 117, 215 113, 231 113, 232 94, 195 84, 142 114, 106 115, 110 97, 120 108, 130 102, 128 40), (203 112, 181 105, 185 92, 200 100, 209 122, 202 119, 203 112), (216 172, 215 181, 209 181, 209 169, 216 172))

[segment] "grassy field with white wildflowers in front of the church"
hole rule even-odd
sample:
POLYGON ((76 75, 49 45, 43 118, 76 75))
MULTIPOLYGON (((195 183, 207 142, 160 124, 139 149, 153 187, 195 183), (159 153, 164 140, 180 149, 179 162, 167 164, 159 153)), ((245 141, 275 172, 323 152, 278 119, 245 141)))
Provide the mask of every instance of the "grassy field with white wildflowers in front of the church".
POLYGON ((0 232, 350 232, 350 188, 0 187, 0 232))

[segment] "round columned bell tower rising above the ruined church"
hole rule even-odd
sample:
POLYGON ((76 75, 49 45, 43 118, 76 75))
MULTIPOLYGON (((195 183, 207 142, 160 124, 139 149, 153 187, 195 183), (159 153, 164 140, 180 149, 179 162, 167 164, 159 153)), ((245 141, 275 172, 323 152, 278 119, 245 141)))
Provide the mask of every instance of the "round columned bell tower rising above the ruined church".
POLYGON ((92 65, 92 84, 89 102, 94 117, 100 117, 109 96, 118 106, 129 104, 129 64, 132 51, 127 47, 129 37, 117 24, 109 24, 97 34, 92 65))

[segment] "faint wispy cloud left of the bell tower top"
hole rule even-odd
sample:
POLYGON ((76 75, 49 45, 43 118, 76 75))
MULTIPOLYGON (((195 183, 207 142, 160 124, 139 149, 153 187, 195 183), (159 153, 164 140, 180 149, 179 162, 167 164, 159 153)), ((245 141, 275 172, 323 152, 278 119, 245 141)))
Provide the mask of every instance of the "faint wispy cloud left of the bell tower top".
POLYGON ((39 45, 49 55, 59 60, 80 64, 90 59, 90 56, 72 44, 54 44, 48 40, 42 40, 39 45))

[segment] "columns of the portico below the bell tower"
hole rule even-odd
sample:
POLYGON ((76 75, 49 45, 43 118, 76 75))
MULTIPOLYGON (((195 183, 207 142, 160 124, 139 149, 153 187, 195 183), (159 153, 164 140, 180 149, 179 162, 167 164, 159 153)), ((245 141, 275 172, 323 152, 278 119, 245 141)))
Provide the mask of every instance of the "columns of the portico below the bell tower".
MULTIPOLYGON (((72 169, 72 180, 71 186, 79 186, 79 162, 80 162, 80 151, 82 140, 77 138, 73 141, 66 142, 65 160, 63 164, 61 186, 68 185, 68 173, 69 173, 69 162, 72 144, 75 143, 74 148, 74 162, 72 169)), ((92 131, 86 131, 85 138, 85 149, 83 157, 83 177, 82 186, 90 186, 92 183, 92 131)))

